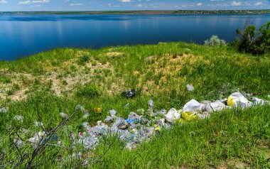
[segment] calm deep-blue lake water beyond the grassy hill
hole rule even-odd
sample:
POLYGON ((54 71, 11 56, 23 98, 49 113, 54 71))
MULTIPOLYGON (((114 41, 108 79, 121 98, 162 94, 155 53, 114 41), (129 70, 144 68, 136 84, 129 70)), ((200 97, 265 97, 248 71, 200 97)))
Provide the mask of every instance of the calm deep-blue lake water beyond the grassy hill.
POLYGON ((215 34, 229 41, 259 15, 0 15, 0 60, 58 48, 100 48, 169 41, 202 43, 215 34))

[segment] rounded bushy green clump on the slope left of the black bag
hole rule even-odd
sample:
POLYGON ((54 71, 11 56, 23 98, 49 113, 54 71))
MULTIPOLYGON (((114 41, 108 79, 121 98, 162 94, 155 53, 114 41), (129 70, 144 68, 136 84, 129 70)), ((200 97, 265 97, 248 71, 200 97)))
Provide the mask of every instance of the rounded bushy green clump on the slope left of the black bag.
POLYGON ((77 97, 98 97, 100 95, 100 89, 95 84, 85 84, 85 86, 80 86, 77 89, 77 97))

